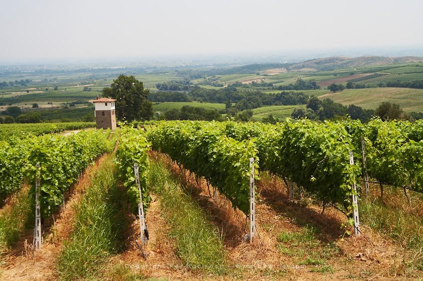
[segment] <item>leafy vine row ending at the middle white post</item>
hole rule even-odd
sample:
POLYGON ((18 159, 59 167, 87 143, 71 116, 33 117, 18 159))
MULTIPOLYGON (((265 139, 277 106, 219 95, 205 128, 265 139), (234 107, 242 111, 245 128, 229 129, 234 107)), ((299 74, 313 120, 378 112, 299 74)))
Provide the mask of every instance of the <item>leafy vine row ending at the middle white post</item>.
POLYGON ((152 148, 168 154, 186 169, 204 177, 244 213, 249 210, 249 159, 257 149, 252 140, 223 134, 223 123, 161 122, 148 132, 152 148))

